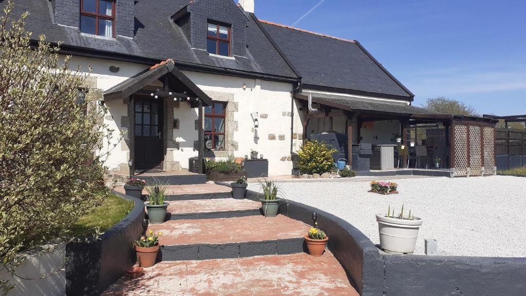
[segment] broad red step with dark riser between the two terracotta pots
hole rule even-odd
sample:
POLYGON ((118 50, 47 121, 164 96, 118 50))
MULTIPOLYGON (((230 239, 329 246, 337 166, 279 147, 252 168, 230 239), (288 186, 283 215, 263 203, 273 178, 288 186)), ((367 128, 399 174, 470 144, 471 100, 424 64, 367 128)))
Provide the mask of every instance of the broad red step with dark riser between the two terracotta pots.
POLYGON ((284 215, 171 220, 148 226, 163 233, 159 238, 163 261, 300 253, 305 251, 309 228, 284 215))

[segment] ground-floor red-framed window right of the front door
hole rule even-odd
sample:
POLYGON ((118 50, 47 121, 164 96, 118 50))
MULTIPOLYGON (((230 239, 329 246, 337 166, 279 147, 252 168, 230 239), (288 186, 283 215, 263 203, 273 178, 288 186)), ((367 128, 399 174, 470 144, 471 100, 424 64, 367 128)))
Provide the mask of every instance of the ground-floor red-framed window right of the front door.
POLYGON ((205 147, 207 150, 225 150, 226 103, 213 102, 205 107, 205 147))

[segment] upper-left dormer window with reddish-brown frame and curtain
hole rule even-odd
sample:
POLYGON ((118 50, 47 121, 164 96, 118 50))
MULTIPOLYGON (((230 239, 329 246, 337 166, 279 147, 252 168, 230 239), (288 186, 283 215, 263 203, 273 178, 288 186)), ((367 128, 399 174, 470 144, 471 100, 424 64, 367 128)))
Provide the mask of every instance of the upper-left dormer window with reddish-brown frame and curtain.
POLYGON ((80 0, 80 32, 115 36, 115 1, 80 0))

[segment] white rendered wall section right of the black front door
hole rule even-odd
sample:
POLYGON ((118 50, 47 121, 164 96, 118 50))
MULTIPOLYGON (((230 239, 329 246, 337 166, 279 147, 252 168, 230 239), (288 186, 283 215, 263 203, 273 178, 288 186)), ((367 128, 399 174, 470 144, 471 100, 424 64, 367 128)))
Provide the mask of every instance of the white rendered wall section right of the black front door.
MULTIPOLYGON (((237 151, 228 151, 236 157, 243 157, 250 154, 250 150, 257 150, 269 160, 270 175, 287 175, 291 173, 292 162, 287 159, 290 157, 291 141, 291 94, 292 84, 255 80, 249 78, 212 75, 205 73, 189 72, 184 73, 201 90, 209 93, 212 98, 221 94, 233 95, 234 103, 237 103, 237 112, 233 113, 229 122, 237 122, 237 131, 233 132, 232 141, 237 142, 237 151), (243 86, 246 85, 246 89, 243 86), (258 138, 255 137, 254 122, 251 113, 259 114, 259 127, 255 129, 258 138), (263 118, 261 115, 266 115, 263 118), (275 139, 275 140, 271 140, 275 139), (282 140, 280 140, 282 139, 282 140), (285 160, 283 160, 285 157, 285 160)), ((181 103, 181 107, 184 103, 181 103)), ((191 143, 197 140, 197 133, 184 135, 183 130, 190 126, 194 130, 195 116, 182 117, 183 108, 176 109, 174 118, 180 118, 180 129, 174 130, 174 139, 184 140, 184 143, 191 143), (179 134, 178 134, 179 133, 179 134), (183 133, 183 135, 181 135, 183 133), (180 139, 183 138, 183 139, 180 139)), ((298 117, 298 110, 295 105, 295 133, 302 133, 301 123, 298 117)), ((227 127, 228 129, 228 127, 227 127)), ((295 140, 295 149, 301 140, 295 140)), ((181 147, 183 147, 181 145, 181 147)), ((188 149, 190 150, 190 149, 188 149)), ((174 151, 174 160, 179 161, 182 167, 188 166, 188 157, 197 155, 197 151, 189 153, 188 150, 174 151)), ((226 155, 216 153, 218 155, 226 155)))

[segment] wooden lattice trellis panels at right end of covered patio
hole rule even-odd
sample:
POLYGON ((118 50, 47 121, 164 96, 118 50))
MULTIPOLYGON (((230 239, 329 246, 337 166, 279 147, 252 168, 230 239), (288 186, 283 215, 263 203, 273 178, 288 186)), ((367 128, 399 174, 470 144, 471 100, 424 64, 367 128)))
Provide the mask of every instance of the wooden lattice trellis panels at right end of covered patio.
POLYGON ((480 124, 453 124, 453 176, 495 172, 495 130, 480 124))

